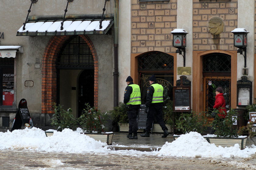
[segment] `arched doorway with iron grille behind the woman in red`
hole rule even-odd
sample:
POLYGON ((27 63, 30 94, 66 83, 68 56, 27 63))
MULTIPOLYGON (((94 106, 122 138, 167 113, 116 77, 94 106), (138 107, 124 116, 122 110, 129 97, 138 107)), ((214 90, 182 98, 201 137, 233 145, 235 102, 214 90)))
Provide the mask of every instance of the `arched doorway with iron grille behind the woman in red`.
POLYGON ((226 109, 231 108, 231 56, 212 53, 203 56, 204 110, 212 110, 215 102, 215 89, 223 88, 226 109))

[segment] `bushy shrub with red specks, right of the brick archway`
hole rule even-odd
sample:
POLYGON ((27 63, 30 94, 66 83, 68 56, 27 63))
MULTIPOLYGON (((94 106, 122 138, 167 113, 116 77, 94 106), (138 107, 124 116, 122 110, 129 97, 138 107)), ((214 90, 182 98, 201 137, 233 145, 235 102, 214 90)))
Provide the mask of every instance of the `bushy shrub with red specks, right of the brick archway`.
POLYGON ((105 118, 106 114, 102 114, 96 108, 91 107, 89 103, 86 103, 85 109, 82 110, 82 114, 77 121, 85 132, 92 133, 92 131, 97 131, 101 133, 105 118))

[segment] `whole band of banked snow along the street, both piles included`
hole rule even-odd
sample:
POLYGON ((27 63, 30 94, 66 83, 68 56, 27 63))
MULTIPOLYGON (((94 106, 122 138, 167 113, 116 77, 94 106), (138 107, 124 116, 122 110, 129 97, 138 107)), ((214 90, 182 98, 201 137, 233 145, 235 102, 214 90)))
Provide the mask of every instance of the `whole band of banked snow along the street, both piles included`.
POLYGON ((166 142, 160 151, 140 152, 108 149, 104 142, 95 141, 84 134, 64 129, 62 132, 54 131, 53 136, 46 137, 44 131, 33 127, 31 129, 0 132, 0 149, 27 149, 46 152, 97 152, 102 154, 115 153, 121 155, 158 155, 175 157, 201 157, 201 158, 248 158, 255 154, 256 146, 239 149, 234 147, 216 147, 208 143, 201 134, 190 132, 183 134, 175 141, 166 142))

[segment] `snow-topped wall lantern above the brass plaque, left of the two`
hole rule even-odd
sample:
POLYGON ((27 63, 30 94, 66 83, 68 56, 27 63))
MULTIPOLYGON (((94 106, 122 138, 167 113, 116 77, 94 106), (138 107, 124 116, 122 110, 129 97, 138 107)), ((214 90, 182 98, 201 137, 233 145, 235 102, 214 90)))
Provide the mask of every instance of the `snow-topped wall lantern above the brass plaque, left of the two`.
POLYGON ((172 40, 172 46, 177 48, 176 53, 179 53, 180 55, 181 52, 183 52, 183 67, 186 66, 186 35, 188 34, 187 31, 184 29, 174 29, 171 31, 173 34, 173 40, 172 40))

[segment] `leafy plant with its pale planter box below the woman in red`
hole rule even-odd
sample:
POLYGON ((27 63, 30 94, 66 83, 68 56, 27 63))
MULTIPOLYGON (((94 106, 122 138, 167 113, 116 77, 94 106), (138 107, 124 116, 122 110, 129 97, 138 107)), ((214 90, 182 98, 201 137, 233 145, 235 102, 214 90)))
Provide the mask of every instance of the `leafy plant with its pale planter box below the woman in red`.
MULTIPOLYGON (((213 111, 218 112, 218 110, 213 111)), ((234 146, 234 144, 238 143, 240 149, 244 149, 247 136, 238 137, 238 127, 233 126, 233 124, 237 122, 237 114, 235 109, 230 109, 225 118, 219 117, 219 115, 216 114, 211 125, 217 137, 208 137, 210 143, 222 147, 234 146)))

